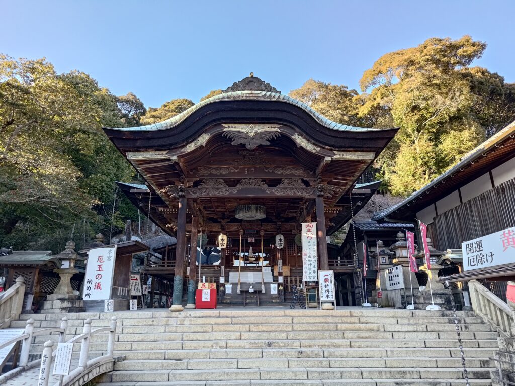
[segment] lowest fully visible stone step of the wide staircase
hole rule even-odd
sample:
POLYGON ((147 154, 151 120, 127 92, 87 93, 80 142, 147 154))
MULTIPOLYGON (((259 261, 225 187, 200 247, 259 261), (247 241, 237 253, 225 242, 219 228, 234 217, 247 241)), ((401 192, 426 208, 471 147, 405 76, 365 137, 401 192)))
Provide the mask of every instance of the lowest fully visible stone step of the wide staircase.
MULTIPOLYGON (((469 379, 488 379, 488 368, 468 370, 469 379)), ((459 368, 428 369, 425 367, 380 368, 298 368, 298 369, 204 369, 204 370, 152 370, 152 371, 114 371, 102 381, 111 382, 167 382, 167 381, 232 381, 232 380, 377 380, 377 379, 462 379, 459 368)), ((279 383, 278 383, 279 384, 279 383)), ((280 384, 283 384, 282 382, 280 384)))

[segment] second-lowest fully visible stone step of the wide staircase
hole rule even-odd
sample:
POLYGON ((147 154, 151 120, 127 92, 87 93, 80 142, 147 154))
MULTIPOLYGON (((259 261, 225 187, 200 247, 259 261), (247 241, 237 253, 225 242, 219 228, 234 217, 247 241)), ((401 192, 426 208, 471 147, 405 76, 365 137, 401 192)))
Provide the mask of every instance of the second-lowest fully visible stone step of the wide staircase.
MULTIPOLYGON (((468 368, 494 367, 488 358, 466 359, 468 368)), ((126 360, 117 362, 116 371, 149 370, 224 370, 224 369, 299 369, 299 368, 349 368, 373 367, 429 367, 445 369, 461 367, 461 358, 234 358, 234 359, 173 359, 173 360, 126 360)))

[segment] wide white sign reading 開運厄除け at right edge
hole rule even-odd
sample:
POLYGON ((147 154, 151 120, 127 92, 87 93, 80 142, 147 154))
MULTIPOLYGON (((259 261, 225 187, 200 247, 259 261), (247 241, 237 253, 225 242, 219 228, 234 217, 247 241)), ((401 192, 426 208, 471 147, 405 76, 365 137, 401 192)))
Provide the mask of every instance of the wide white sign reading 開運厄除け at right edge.
POLYGON ((461 244, 464 271, 515 262, 515 227, 461 244))

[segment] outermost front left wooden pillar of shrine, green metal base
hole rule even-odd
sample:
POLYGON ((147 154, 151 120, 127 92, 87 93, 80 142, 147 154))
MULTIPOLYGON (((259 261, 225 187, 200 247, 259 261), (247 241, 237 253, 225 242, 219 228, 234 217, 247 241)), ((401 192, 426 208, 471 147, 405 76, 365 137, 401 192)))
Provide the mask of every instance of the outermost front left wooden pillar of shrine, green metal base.
POLYGON ((174 295, 170 311, 182 311, 182 284, 184 282, 184 255, 186 252, 186 195, 184 185, 178 187, 177 196, 177 249, 175 253, 174 295))

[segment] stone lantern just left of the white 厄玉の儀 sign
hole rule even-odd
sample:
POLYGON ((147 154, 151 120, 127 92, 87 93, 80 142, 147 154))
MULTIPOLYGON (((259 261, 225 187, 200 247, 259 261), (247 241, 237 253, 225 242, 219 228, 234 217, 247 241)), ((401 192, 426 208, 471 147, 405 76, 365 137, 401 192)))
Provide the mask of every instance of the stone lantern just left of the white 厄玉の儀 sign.
POLYGON ((59 274, 59 284, 54 293, 46 297, 41 309, 42 313, 58 313, 58 312, 84 312, 84 302, 79 299, 78 292, 74 293, 72 288, 72 276, 78 273, 75 269, 75 262, 82 258, 75 252, 75 242, 68 241, 66 249, 57 254, 61 261, 61 268, 54 270, 59 274))

